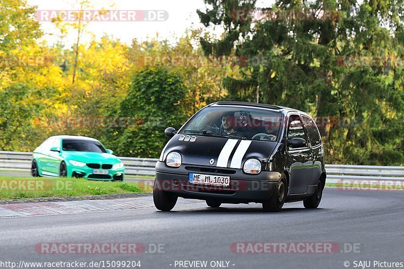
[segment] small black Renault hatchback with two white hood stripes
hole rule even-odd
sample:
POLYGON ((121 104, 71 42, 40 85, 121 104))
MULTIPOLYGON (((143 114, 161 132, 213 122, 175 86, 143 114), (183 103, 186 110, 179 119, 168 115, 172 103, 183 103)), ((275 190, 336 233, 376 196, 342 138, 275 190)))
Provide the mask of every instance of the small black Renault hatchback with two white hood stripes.
POLYGON ((315 121, 284 106, 219 101, 193 115, 172 137, 156 164, 157 209, 178 197, 222 203, 285 202, 319 206, 325 186, 324 150, 315 121))

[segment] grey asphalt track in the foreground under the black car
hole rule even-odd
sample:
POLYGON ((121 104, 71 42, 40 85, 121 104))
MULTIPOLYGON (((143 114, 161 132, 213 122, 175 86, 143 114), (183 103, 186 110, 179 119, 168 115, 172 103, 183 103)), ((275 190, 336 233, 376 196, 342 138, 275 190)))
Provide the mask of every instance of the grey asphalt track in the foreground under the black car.
POLYGON ((404 262, 403 202, 402 191, 325 188, 321 208, 305 209, 295 202, 276 213, 262 212, 260 204, 213 209, 201 202, 171 212, 145 208, 2 218, 0 259, 140 260, 141 268, 179 268, 176 260, 207 260, 208 265, 224 260, 230 268, 345 268, 344 261, 353 268, 355 260, 371 261, 372 266, 374 260, 404 262), (160 243, 165 253, 38 254, 34 247, 40 242, 160 243), (360 253, 238 254, 230 249, 234 242, 348 243, 347 248, 358 244, 360 253))

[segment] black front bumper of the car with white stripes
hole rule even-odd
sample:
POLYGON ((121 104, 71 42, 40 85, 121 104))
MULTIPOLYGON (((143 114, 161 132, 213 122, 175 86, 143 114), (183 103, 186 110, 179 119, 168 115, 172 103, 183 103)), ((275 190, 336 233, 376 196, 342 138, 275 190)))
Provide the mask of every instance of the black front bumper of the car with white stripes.
POLYGON ((183 198, 216 199, 227 203, 263 202, 272 196, 280 176, 278 172, 262 171, 258 175, 250 175, 241 169, 184 164, 171 168, 159 161, 156 164, 154 184, 183 198), (230 186, 193 184, 188 181, 189 173, 230 176, 230 186))

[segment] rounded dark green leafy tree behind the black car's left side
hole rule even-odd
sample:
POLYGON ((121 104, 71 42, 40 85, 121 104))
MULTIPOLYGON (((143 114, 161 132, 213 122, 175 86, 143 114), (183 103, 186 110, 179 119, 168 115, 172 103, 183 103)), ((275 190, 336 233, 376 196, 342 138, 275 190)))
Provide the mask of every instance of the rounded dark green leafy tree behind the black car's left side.
POLYGON ((147 67, 135 73, 119 116, 135 119, 137 124, 119 133, 117 151, 130 156, 158 157, 168 140, 165 128, 178 129, 186 120, 186 107, 182 105, 185 96, 183 78, 172 70, 147 67))

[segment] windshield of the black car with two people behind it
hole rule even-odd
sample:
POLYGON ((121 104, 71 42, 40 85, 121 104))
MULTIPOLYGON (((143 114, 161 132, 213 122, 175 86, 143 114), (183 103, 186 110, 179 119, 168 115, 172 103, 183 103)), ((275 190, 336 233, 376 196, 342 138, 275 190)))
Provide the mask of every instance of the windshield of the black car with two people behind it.
POLYGON ((181 133, 277 141, 282 119, 270 110, 213 106, 201 110, 181 133))

